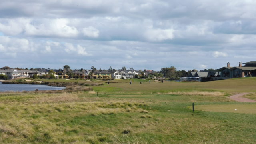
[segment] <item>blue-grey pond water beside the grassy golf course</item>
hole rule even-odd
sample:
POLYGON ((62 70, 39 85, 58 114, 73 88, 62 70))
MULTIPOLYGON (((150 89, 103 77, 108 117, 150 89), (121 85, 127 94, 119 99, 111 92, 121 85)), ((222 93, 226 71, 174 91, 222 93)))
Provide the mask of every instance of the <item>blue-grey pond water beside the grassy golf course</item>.
POLYGON ((47 85, 34 85, 34 84, 2 84, 0 82, 0 92, 6 91, 35 91, 38 90, 63 90, 65 87, 55 87, 47 85))

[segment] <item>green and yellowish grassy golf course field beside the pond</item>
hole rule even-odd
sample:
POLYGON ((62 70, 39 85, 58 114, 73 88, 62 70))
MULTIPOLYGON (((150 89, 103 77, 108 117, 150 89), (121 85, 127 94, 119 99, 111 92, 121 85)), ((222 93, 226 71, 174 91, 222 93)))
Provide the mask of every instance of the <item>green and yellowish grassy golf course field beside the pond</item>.
POLYGON ((148 80, 134 79, 131 85, 130 80, 96 82, 104 85, 93 86, 93 91, 0 93, 0 143, 256 142, 256 114, 252 112, 256 104, 228 98, 239 92, 252 92, 249 97, 255 98, 256 78, 164 83, 151 80, 150 84, 148 80), (196 104, 195 112, 191 110, 192 102, 196 104))

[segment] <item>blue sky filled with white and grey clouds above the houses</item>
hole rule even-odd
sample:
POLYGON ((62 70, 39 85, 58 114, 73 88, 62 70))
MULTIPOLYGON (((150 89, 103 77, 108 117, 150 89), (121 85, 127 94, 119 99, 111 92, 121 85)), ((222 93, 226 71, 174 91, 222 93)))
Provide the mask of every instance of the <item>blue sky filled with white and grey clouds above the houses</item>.
POLYGON ((217 69, 255 46, 255 0, 0 0, 0 67, 217 69))

